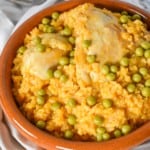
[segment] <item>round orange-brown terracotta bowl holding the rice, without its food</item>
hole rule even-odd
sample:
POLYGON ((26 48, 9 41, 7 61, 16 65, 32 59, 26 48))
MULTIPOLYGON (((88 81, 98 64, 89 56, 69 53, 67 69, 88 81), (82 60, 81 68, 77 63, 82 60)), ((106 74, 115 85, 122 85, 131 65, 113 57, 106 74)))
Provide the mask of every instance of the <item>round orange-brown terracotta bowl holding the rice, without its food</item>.
POLYGON ((23 43, 25 34, 28 33, 40 20, 53 11, 63 12, 79 4, 92 2, 98 7, 106 7, 110 10, 126 10, 130 13, 138 13, 143 16, 144 21, 150 28, 150 14, 127 3, 116 0, 72 0, 48 7, 36 15, 32 16, 23 23, 16 32, 10 37, 0 58, 0 98, 1 106, 5 115, 14 127, 28 140, 45 149, 63 149, 71 150, 123 150, 130 149, 142 142, 150 139, 150 122, 141 126, 132 133, 106 142, 76 142, 56 138, 46 132, 43 132, 32 125, 19 111, 11 91, 11 67, 16 54, 16 49, 23 43))

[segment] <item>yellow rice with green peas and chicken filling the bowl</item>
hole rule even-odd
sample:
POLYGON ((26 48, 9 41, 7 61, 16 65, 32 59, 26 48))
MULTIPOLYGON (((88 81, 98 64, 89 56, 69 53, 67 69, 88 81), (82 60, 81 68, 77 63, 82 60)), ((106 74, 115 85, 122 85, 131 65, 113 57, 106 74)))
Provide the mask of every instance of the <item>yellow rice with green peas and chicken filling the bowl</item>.
POLYGON ((13 64, 20 110, 57 137, 104 141, 150 120, 150 32, 138 14, 90 3, 53 12, 13 64))

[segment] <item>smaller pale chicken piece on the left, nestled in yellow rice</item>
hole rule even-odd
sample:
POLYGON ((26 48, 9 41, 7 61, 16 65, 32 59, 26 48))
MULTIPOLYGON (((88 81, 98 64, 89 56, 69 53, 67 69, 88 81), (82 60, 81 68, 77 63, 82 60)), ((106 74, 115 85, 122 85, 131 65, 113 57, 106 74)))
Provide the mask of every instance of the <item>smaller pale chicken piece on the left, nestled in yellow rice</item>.
POLYGON ((47 79, 47 70, 57 65, 63 55, 61 50, 39 53, 27 50, 23 56, 22 74, 30 73, 42 80, 47 79))

